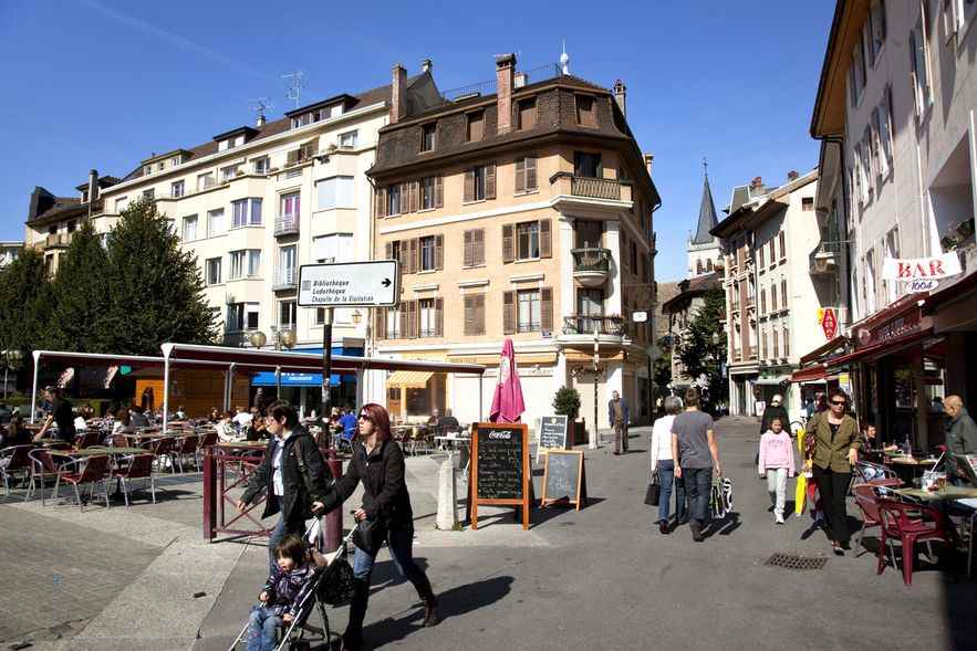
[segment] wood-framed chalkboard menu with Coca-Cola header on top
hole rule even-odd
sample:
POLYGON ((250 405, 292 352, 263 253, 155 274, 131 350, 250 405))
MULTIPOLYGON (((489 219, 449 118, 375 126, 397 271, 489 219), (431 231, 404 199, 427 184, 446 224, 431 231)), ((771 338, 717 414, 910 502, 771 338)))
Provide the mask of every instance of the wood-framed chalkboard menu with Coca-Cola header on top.
POLYGON ((478 528, 478 505, 522 507, 529 528, 529 430, 520 423, 476 423, 471 437, 471 528, 478 528))

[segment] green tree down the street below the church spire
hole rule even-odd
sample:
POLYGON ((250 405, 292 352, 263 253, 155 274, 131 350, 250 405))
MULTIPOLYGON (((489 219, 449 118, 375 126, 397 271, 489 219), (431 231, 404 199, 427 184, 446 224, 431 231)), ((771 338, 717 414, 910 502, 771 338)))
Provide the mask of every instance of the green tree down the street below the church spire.
POLYGON ((705 379, 704 388, 710 405, 726 400, 729 393, 721 372, 726 360, 726 333, 723 329, 725 316, 726 297, 723 290, 708 290, 703 294, 701 305, 676 346, 678 358, 688 377, 705 379))

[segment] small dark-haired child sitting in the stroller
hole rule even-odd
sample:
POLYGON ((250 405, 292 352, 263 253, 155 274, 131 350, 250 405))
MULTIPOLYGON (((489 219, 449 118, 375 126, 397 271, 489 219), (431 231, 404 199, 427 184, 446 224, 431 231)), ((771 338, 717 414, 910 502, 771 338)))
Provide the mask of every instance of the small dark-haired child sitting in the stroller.
POLYGON ((276 548, 277 564, 261 595, 261 603, 251 609, 245 639, 248 651, 273 651, 278 629, 291 624, 299 607, 313 588, 316 566, 310 561, 305 543, 299 536, 285 536, 276 548))

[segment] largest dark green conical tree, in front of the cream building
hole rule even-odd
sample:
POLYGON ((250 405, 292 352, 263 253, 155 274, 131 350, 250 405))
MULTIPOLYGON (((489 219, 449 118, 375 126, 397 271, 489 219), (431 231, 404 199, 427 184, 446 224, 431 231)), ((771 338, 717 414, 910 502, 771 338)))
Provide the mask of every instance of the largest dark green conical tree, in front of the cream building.
POLYGON ((122 212, 107 248, 107 306, 100 328, 106 350, 158 356, 165 342, 215 342, 217 328, 197 259, 179 250, 169 221, 152 199, 122 212))

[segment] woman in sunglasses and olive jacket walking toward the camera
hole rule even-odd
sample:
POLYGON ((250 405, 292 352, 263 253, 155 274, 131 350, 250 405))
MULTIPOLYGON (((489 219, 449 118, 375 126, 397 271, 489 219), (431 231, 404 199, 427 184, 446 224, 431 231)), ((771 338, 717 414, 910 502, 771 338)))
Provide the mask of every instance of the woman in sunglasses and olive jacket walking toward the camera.
POLYGON ((834 389, 828 396, 828 411, 815 414, 808 422, 808 432, 814 437, 811 454, 814 482, 821 495, 827 534, 839 556, 849 548, 845 496, 852 480, 852 466, 859 461, 862 437, 859 423, 845 413, 848 395, 834 389))

